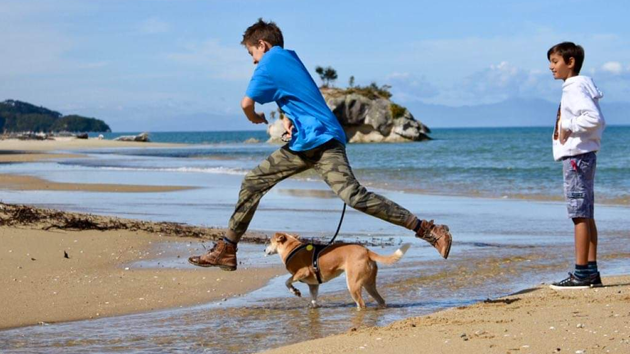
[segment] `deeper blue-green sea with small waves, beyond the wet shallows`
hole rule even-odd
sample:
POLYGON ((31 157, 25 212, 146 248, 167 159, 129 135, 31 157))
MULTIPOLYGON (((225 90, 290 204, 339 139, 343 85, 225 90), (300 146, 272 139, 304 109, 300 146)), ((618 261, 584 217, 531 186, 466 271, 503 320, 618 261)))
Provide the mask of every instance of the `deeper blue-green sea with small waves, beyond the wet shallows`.
MULTIPOLYGON (((430 141, 350 144, 347 150, 357 178, 370 186, 440 195, 561 200, 561 165, 553 161, 551 133, 541 127, 437 128, 430 141)), ((121 134, 106 138, 117 135, 121 134)), ((630 203, 629 135, 629 126, 607 127, 604 132, 595 176, 598 202, 630 203)), ((100 167, 244 174, 277 148, 264 143, 267 136, 261 131, 160 132, 151 134, 151 139, 197 145, 103 151, 174 159, 144 161, 142 166, 109 159, 100 167), (261 143, 244 144, 248 139, 261 143)))

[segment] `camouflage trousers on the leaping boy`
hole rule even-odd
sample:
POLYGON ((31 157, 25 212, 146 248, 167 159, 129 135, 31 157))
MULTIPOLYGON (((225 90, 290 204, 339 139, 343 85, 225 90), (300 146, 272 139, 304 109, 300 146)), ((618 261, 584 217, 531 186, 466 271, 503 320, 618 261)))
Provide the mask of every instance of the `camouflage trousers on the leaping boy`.
POLYGON ((345 146, 333 139, 308 151, 295 152, 290 151, 288 145, 283 146, 249 171, 241 185, 226 236, 238 242, 247 230, 260 198, 278 182, 309 168, 315 169, 348 206, 408 229, 415 226, 417 218, 409 210, 367 191, 358 183, 348 163, 345 146))

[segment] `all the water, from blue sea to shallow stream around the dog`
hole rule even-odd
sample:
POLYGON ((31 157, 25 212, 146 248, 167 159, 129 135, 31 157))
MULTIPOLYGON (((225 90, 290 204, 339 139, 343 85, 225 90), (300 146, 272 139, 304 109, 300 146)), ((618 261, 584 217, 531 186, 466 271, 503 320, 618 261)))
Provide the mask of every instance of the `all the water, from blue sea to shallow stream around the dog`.
MULTIPOLYGON (((598 156, 595 210, 602 275, 630 272, 630 147, 625 142, 629 133, 630 127, 607 128, 598 156)), ((253 353, 351 327, 383 326, 558 280, 573 264, 573 227, 561 201, 561 166, 551 158, 550 134, 547 128, 436 129, 434 140, 427 142, 348 146, 360 181, 420 217, 449 225, 454 234, 449 260, 444 261, 401 227, 351 208, 347 211, 341 240, 412 243, 401 263, 379 268, 379 292, 388 309, 355 311, 343 276, 322 285, 321 309, 308 309, 308 297, 290 295, 283 276, 226 302, 0 331, 0 352, 253 353)), ((264 142, 264 132, 156 133, 152 139, 192 145, 84 151, 85 158, 3 164, 0 173, 71 183, 197 189, 165 193, 0 190, 0 200, 224 227, 243 175, 278 148, 264 142), (251 138, 260 142, 246 143, 251 138)), ((265 195, 250 229, 331 237, 341 207, 342 202, 316 174, 304 173, 282 181, 265 195)), ((181 268, 190 265, 184 256, 175 254, 203 252, 200 244, 180 247, 176 253, 154 251, 166 252, 159 260, 162 264, 181 268)), ((396 247, 373 249, 387 254, 396 247)), ((280 263, 279 258, 263 259, 263 246, 239 248, 242 266, 280 263)), ((307 294, 306 287, 297 287, 307 294)), ((371 299, 366 300, 374 306, 371 299)))

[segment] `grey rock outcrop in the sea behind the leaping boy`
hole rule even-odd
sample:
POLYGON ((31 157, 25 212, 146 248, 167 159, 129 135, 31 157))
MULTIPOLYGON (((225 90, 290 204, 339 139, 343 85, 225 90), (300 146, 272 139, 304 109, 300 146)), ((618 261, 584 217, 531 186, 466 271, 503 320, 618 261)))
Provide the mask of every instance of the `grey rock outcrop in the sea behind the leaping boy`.
MULTIPOLYGON (((430 129, 406 108, 377 94, 368 97, 353 90, 323 88, 324 100, 341 123, 348 142, 409 142, 428 140, 430 129)), ((278 119, 267 128, 269 142, 281 142, 278 119)))

